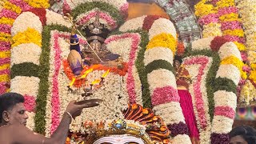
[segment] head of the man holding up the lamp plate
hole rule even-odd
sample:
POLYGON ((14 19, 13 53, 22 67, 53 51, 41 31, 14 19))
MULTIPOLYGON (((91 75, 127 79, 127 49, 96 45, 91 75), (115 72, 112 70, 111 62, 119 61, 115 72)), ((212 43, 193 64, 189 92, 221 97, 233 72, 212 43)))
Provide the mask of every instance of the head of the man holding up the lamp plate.
POLYGON ((24 97, 17 93, 6 93, 0 95, 0 124, 23 124, 26 125, 24 97))

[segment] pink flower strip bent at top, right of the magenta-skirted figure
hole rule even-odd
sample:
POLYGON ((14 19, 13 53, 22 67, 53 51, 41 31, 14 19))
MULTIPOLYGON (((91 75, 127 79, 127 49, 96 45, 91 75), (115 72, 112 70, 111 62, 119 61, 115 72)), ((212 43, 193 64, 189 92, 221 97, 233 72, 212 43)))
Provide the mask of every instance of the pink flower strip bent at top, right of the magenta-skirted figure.
POLYGON ((198 111, 198 120, 200 122, 201 128, 206 128, 207 126, 207 121, 206 121, 206 111, 204 108, 205 103, 203 102, 202 99, 202 90, 201 90, 201 83, 202 83, 202 75, 204 74, 204 70, 206 69, 206 65, 209 63, 209 58, 203 56, 203 57, 193 57, 190 59, 187 59, 184 64, 185 65, 201 65, 199 67, 199 72, 197 75, 197 80, 193 84, 193 90, 194 90, 194 95, 195 95, 195 106, 198 111))

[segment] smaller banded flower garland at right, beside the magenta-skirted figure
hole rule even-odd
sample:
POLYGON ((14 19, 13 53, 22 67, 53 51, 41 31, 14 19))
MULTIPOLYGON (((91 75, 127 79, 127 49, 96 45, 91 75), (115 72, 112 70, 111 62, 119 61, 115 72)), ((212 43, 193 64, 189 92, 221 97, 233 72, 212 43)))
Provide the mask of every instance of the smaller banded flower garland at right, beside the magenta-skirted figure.
MULTIPOLYGON (((238 48, 233 42, 228 42, 222 37, 203 38, 202 40, 193 42, 192 51, 189 51, 186 55, 194 55, 194 57, 188 57, 185 60, 185 64, 187 63, 187 69, 190 71, 192 79, 193 77, 201 78, 197 76, 200 70, 198 70, 199 67, 197 68, 197 66, 190 66, 188 62, 190 62, 190 60, 191 62, 200 62, 199 58, 202 57, 201 54, 207 54, 208 57, 210 56, 214 58, 214 60, 212 61, 213 64, 210 66, 210 70, 208 69, 209 74, 204 78, 206 79, 206 84, 202 82, 201 86, 197 86, 196 82, 193 82, 193 85, 190 86, 190 93, 194 102, 194 112, 199 124, 200 139, 202 143, 228 142, 229 138, 227 134, 231 130, 236 108, 235 88, 238 86, 241 75, 240 71, 242 71, 243 66, 241 54, 239 54, 238 48), (200 48, 194 46, 199 46, 200 48), (206 48, 203 49, 203 46, 206 48), (218 52, 218 54, 215 53, 214 56, 211 50, 218 52), (198 56, 198 58, 195 56, 198 56), (192 61, 193 58, 195 58, 194 61, 192 61), (218 67, 219 64, 221 65, 218 67), (207 101, 204 101, 205 106, 203 109, 199 109, 197 107, 198 105, 195 103, 200 93, 197 94, 193 88, 202 88, 204 86, 206 86, 206 93, 202 93, 204 94, 202 98, 208 97, 210 119, 206 119, 206 122, 208 123, 208 130, 211 130, 212 134, 202 133, 202 124, 200 124, 200 122, 204 123, 202 122, 203 117, 201 113, 202 110, 207 110, 207 101), (223 95, 227 96, 223 97, 223 95), (224 99, 228 99, 228 101, 224 99), (198 110, 200 113, 198 113, 198 110), (199 114, 201 114, 201 116, 199 114), (223 119, 225 123, 222 122, 223 119), (212 123, 209 125, 211 121, 212 123)), ((208 113, 205 112, 205 114, 208 113)))

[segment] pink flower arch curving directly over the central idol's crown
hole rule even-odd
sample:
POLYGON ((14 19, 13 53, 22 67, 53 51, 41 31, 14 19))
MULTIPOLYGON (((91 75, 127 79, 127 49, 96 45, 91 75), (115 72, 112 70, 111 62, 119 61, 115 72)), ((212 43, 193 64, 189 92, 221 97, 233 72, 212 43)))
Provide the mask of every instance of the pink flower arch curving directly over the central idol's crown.
MULTIPOLYGON (((96 11, 86 14, 83 18, 79 19, 78 25, 84 25, 91 18, 95 17, 96 14, 97 14, 96 11)), ((104 19, 107 22, 107 25, 110 26, 111 30, 115 29, 118 26, 117 22, 109 14, 103 13, 102 11, 99 12, 99 18, 104 19)))

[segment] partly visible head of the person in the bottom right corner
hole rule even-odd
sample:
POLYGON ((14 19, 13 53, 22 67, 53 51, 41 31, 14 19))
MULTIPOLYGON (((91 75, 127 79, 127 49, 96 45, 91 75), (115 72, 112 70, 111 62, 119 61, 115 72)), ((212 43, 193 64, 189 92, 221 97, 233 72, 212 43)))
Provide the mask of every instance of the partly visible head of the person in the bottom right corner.
POLYGON ((230 131, 230 144, 256 144, 256 130, 250 126, 238 126, 230 131))

